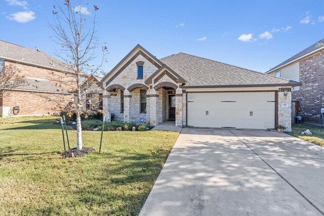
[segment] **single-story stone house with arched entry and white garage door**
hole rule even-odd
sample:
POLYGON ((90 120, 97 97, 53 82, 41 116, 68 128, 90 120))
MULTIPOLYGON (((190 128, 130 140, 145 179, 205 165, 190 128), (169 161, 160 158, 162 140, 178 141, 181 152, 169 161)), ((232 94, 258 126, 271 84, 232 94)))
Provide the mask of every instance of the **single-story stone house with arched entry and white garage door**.
MULTIPOLYGON (((178 53, 162 59, 137 45, 102 80, 113 120, 175 126, 291 131, 291 89, 300 83, 178 53)), ((109 115, 107 115, 107 120, 109 115)))

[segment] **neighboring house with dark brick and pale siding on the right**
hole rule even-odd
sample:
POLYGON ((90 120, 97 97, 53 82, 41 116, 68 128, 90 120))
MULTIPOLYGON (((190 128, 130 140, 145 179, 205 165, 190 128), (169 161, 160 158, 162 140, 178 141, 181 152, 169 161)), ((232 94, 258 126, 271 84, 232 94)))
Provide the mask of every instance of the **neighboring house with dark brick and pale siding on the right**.
POLYGON ((300 114, 305 122, 322 124, 324 108, 324 39, 273 67, 267 74, 302 83, 292 89, 292 120, 300 114))

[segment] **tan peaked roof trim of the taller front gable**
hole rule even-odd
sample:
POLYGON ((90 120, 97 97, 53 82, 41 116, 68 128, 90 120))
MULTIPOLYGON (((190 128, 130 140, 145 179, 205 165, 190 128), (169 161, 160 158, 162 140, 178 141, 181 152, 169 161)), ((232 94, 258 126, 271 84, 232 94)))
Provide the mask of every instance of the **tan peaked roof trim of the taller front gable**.
POLYGON ((131 52, 129 52, 110 72, 102 78, 100 83, 106 82, 108 85, 114 78, 116 78, 127 66, 129 66, 139 55, 152 63, 156 68, 160 68, 163 63, 155 56, 145 50, 141 45, 137 45, 131 52), (108 79, 109 78, 109 79, 108 79), (107 80, 108 79, 108 80, 107 80))

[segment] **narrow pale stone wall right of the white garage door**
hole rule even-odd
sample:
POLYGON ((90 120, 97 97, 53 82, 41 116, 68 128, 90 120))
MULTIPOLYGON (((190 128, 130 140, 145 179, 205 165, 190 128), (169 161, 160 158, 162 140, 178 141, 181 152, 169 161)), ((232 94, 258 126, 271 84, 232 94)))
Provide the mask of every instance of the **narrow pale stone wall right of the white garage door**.
POLYGON ((285 96, 284 92, 278 92, 278 123, 286 126, 286 131, 292 131, 292 93, 288 92, 285 96), (283 103, 288 103, 288 107, 282 107, 283 103))

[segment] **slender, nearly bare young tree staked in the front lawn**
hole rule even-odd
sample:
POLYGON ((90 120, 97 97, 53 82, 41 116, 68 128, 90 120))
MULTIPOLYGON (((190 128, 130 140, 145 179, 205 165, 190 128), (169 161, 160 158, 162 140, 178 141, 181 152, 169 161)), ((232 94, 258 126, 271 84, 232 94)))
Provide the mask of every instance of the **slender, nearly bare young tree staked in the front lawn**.
POLYGON ((105 61, 107 47, 99 44, 95 30, 96 13, 99 10, 97 6, 93 6, 94 10, 90 12, 80 2, 77 5, 72 5, 69 0, 65 0, 64 5, 57 2, 53 8, 54 22, 49 23, 49 26, 54 32, 53 40, 57 44, 54 55, 60 59, 59 62, 54 63, 53 61, 53 64, 65 67, 67 72, 59 75, 53 72, 49 79, 55 83, 57 91, 61 91, 62 88, 72 93, 74 100, 53 95, 48 99, 57 103, 56 109, 67 112, 68 116, 76 114, 76 147, 80 150, 82 149, 80 115, 85 114, 87 117, 92 112, 103 112, 97 109, 98 106, 92 103, 91 99, 86 99, 86 94, 94 84, 93 75, 100 72, 105 61), (88 17, 93 18, 91 22, 88 22, 88 17), (97 58, 96 52, 100 47, 102 51, 101 63, 96 66, 92 65, 91 62, 97 58), (90 104, 87 108, 85 107, 86 101, 88 105, 90 104))

